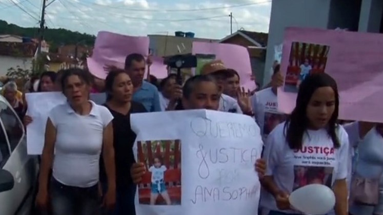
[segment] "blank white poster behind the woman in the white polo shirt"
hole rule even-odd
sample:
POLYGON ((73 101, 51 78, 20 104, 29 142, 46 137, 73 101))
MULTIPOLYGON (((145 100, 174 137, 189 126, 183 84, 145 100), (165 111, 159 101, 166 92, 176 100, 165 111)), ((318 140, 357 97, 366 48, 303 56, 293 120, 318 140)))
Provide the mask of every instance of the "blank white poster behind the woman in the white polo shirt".
MULTIPOLYGON (((67 102, 67 98, 61 92, 27 93, 25 98, 28 104, 27 115, 33 120, 27 126, 27 152, 28 155, 41 155, 48 113, 53 107, 67 102)), ((90 99, 96 104, 103 104, 106 95, 105 93, 90 94, 90 99)))

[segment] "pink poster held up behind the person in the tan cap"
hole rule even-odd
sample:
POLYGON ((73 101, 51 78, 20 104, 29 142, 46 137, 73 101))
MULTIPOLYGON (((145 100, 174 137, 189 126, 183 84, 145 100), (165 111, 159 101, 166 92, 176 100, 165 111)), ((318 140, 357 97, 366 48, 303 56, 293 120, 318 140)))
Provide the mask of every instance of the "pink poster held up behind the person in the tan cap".
POLYGON ((243 46, 233 44, 218 44, 216 42, 193 42, 192 54, 214 54, 215 59, 222 60, 227 68, 239 73, 240 84, 245 89, 254 90, 251 80, 250 56, 243 46))

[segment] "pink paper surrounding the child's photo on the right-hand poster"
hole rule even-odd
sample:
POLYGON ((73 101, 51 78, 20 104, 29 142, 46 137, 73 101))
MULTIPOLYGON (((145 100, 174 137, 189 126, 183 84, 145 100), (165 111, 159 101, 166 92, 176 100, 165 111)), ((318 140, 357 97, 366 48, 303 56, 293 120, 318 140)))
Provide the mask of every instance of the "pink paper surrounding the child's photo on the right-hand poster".
MULTIPOLYGON (((281 61, 286 77, 293 42, 322 44, 330 47, 325 72, 338 84, 339 118, 383 122, 383 37, 381 34, 338 30, 287 28, 281 61), (368 111, 366 111, 368 110, 368 111)), ((290 114, 296 93, 278 89, 278 109, 290 114)))

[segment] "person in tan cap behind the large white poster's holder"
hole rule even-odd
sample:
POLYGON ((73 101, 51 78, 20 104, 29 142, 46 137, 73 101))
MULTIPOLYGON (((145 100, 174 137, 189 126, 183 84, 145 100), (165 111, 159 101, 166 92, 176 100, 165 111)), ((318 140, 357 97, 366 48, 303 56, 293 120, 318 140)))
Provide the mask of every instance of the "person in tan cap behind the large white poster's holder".
MULTIPOLYGON (((200 74, 212 76, 218 84, 220 94, 218 111, 239 114, 242 114, 244 112, 251 112, 251 107, 250 110, 249 107, 245 107, 246 105, 244 105, 243 108, 241 108, 236 99, 223 93, 225 81, 228 76, 228 69, 225 67, 224 63, 221 60, 213 60, 206 63, 201 68, 200 74)), ((238 97, 238 99, 240 98, 242 97, 238 97)))

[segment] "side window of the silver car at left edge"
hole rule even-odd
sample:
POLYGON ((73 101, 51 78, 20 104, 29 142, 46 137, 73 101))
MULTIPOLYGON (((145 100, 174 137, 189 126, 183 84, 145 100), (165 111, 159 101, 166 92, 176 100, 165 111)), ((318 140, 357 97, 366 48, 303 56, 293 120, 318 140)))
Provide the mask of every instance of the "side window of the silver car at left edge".
POLYGON ((0 101, 0 119, 3 122, 4 130, 7 134, 11 151, 13 152, 18 143, 23 138, 23 124, 18 119, 15 112, 6 103, 2 101, 0 101))

